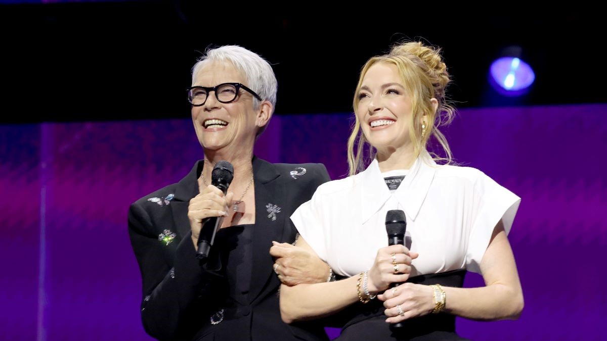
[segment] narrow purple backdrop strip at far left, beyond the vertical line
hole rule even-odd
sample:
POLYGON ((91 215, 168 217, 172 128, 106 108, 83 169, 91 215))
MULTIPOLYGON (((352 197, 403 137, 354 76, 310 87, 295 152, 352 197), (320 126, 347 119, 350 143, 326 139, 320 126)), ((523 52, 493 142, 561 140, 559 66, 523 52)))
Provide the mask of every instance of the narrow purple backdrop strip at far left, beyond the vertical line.
POLYGON ((0 126, 2 340, 35 340, 42 323, 38 320, 44 308, 38 304, 44 302, 44 268, 39 267, 44 261, 39 253, 40 152, 39 125, 0 126))

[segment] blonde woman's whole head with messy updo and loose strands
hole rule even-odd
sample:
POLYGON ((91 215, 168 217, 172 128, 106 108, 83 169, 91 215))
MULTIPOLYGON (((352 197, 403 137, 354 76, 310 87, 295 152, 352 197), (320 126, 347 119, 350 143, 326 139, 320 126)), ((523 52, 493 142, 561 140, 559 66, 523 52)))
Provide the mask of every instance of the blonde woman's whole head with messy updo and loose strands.
POLYGON ((449 163, 449 145, 438 130, 454 115, 446 103, 449 82, 440 49, 421 42, 404 42, 386 55, 368 59, 354 93, 349 174, 363 170, 368 158, 388 161, 388 168, 410 166, 427 152, 430 138, 443 147, 446 157, 441 160, 449 163))

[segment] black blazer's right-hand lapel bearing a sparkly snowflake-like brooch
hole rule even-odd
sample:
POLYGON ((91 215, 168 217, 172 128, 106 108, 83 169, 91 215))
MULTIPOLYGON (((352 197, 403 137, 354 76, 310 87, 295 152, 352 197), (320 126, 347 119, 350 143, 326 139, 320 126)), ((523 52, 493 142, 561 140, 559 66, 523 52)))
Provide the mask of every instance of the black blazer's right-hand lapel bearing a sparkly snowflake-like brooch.
POLYGON ((253 158, 255 183, 255 227, 253 229, 253 274, 249 301, 253 302, 274 275, 270 247, 272 240, 281 240, 287 212, 285 187, 273 164, 253 158))

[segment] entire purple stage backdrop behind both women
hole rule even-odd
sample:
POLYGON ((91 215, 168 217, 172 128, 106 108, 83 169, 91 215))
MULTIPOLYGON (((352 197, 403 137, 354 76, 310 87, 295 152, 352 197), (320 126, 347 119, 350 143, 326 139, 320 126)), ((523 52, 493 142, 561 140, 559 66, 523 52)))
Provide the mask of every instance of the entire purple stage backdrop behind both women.
MULTIPOLYGON (((351 116, 276 116, 257 155, 347 171, 351 116)), ((600 340, 607 319, 607 104, 466 109, 456 159, 523 198, 510 242, 520 320, 458 320, 473 340, 600 340)), ((189 120, 0 126, 2 340, 149 340, 129 204, 202 157, 189 120)), ((469 274, 467 286, 483 285, 469 274)), ((271 336, 268 336, 271 338, 271 336)))

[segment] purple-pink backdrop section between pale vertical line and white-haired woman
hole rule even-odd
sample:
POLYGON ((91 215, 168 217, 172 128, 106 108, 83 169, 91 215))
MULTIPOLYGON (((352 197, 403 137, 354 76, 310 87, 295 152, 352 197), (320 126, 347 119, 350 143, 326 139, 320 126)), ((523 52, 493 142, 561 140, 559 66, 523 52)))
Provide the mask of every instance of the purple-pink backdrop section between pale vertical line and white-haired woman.
POLYGON ((191 121, 47 126, 48 339, 148 340, 127 209, 201 157, 191 121))

